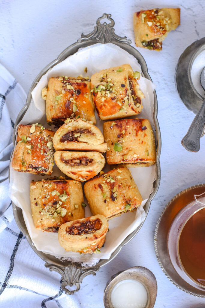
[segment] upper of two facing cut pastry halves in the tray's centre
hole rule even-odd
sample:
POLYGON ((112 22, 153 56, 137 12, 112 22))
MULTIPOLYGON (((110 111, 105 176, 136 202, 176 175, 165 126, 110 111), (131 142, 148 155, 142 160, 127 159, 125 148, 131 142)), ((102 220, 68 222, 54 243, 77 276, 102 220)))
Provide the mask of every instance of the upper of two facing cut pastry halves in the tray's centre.
POLYGON ((55 133, 55 150, 82 150, 105 152, 107 144, 99 128, 82 119, 66 120, 55 133))

